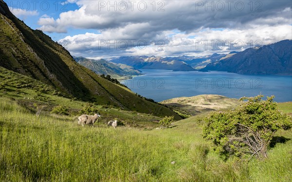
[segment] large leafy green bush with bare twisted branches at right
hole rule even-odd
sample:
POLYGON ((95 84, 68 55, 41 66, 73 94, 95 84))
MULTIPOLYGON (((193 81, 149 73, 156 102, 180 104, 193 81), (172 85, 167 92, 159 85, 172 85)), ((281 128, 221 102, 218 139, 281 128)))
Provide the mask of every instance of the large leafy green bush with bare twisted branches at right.
POLYGON ((262 95, 247 100, 233 111, 214 112, 205 118, 203 137, 212 140, 216 150, 229 155, 256 155, 267 158, 267 149, 279 129, 292 127, 291 117, 282 114, 273 101, 262 95))

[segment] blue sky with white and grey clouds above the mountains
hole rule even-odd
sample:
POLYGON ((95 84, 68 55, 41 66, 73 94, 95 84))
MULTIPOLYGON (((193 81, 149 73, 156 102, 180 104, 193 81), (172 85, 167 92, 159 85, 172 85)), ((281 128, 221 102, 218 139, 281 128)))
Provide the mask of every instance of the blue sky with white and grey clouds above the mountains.
POLYGON ((292 39, 292 0, 4 0, 72 55, 204 56, 292 39))

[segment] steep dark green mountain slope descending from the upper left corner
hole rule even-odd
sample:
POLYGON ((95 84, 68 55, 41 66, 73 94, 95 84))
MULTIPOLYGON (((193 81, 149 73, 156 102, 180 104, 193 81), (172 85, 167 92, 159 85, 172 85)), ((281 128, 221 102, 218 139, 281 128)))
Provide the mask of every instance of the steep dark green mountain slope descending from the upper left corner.
POLYGON ((137 97, 73 60, 70 53, 49 36, 32 30, 0 0, 0 66, 30 76, 86 101, 110 104, 156 116, 180 119, 170 109, 137 97))

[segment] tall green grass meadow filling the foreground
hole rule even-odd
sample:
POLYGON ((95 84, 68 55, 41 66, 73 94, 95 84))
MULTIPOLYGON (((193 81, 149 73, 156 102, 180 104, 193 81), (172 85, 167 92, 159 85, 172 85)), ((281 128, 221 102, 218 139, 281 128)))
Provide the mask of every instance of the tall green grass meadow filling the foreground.
POLYGON ((79 126, 73 116, 44 113, 36 117, 17 101, 1 97, 0 116, 0 181, 292 179, 291 130, 276 133, 278 137, 268 151, 268 159, 247 163, 226 160, 213 151, 212 145, 201 137, 200 115, 175 122, 173 128, 164 130, 128 126, 113 129, 102 122, 92 128, 79 126), (283 138, 285 143, 279 140, 283 138))

